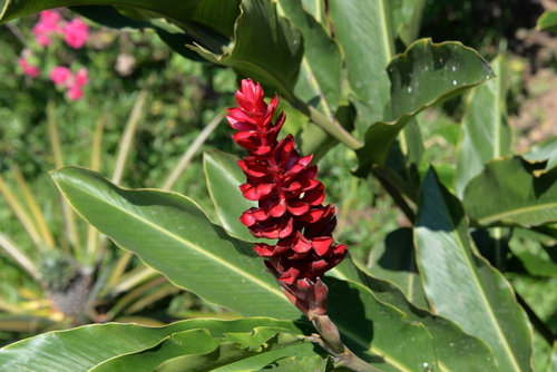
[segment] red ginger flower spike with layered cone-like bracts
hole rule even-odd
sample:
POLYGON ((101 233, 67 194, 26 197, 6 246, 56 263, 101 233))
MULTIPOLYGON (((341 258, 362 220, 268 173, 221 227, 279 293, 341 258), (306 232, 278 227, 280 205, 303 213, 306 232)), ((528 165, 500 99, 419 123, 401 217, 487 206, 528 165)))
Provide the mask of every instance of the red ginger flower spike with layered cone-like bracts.
POLYGON ((248 156, 238 160, 247 177, 240 186, 245 198, 257 200, 242 214, 241 222, 255 237, 278 239, 275 245, 256 243, 255 253, 268 258, 265 265, 282 290, 306 315, 326 313, 326 286, 321 276, 346 255, 344 244, 333 244, 334 207, 323 206, 325 189, 315 179, 312 155, 302 157, 292 135, 277 140, 286 116, 273 123, 278 98, 268 105, 260 84, 242 80, 236 91, 238 107, 228 109, 228 123, 238 130, 233 139, 248 156))

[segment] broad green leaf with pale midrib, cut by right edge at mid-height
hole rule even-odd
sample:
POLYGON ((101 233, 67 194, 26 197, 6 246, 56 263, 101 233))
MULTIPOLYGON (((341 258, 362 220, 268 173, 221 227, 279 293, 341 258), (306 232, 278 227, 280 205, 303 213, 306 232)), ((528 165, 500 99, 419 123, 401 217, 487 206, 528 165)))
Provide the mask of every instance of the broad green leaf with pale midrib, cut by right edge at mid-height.
POLYGON ((465 190, 467 215, 481 226, 539 226, 557 222, 557 167, 505 157, 486 164, 465 190))

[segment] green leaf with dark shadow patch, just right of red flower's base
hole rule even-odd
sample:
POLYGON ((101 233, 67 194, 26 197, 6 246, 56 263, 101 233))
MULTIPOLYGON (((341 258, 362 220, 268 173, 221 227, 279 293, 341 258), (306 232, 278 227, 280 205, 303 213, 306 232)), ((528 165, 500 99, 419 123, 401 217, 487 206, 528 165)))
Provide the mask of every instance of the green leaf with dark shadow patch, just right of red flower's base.
POLYGON ((352 352, 385 372, 433 365, 431 335, 422 324, 405 321, 401 311, 378 301, 363 284, 331 276, 325 283, 328 314, 352 352))

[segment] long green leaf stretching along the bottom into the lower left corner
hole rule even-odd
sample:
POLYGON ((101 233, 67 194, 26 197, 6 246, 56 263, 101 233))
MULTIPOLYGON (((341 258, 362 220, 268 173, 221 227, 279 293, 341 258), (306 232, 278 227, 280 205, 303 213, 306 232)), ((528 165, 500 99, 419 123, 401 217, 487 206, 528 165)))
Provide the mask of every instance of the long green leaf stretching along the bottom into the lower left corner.
MULTIPOLYGON (((188 320, 162 327, 94 324, 45 333, 8 345, 0 350, 0 365, 7 371, 18 372, 118 371, 118 366, 124 368, 119 371, 152 371, 160 360, 173 358, 176 347, 180 349, 180 355, 209 352, 226 340, 228 333, 248 334, 257 327, 274 327, 292 335, 311 332, 306 323, 263 317, 231 322, 188 320), (175 339, 175 335, 178 337, 175 339), (215 340, 215 345, 212 349, 207 342, 199 342, 199 337, 215 340), (179 344, 183 339, 188 342, 179 344)), ((307 346, 296 346, 295 352, 304 356, 314 355, 312 347, 307 346)), ((285 352, 283 356, 295 352, 285 352)))

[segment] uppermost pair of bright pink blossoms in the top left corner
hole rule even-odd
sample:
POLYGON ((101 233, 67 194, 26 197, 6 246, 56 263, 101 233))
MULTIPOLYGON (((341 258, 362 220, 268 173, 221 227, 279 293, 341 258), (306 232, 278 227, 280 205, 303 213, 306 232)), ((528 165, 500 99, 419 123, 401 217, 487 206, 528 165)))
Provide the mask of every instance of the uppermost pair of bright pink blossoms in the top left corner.
POLYGON ((68 46, 79 49, 89 37, 89 26, 79 18, 66 21, 58 11, 45 10, 40 12, 32 32, 40 46, 49 46, 52 43, 52 36, 62 35, 68 46))

